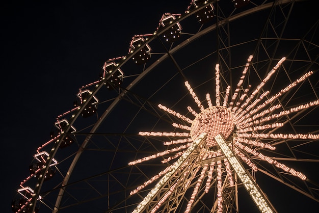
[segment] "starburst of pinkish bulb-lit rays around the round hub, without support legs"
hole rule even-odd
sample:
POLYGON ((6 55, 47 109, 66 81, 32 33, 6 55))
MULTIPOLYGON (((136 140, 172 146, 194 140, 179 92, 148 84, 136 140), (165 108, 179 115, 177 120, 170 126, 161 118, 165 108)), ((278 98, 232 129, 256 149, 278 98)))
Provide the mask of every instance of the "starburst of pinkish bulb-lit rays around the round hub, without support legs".
MULTIPOLYGON (((202 102, 199 100, 198 96, 195 94, 194 90, 190 86, 189 82, 185 82, 185 86, 189 90, 189 93, 192 95, 195 103, 199 108, 199 112, 193 110, 191 107, 188 107, 189 112, 195 117, 191 119, 187 116, 181 115, 178 112, 175 112, 162 104, 158 104, 158 107, 163 111, 183 120, 189 125, 182 125, 173 123, 172 125, 177 129, 183 131, 180 132, 139 132, 141 136, 167 136, 167 137, 180 137, 179 140, 167 141, 164 143, 165 146, 174 145, 174 148, 169 148, 165 151, 158 152, 153 155, 145 156, 141 159, 136 159, 135 161, 129 162, 129 165, 136 165, 150 159, 157 157, 163 157, 162 163, 168 163, 174 159, 178 159, 185 153, 189 147, 192 146, 195 141, 201 134, 206 134, 205 146, 201 148, 201 151, 198 153, 196 164, 198 164, 198 169, 192 170, 190 172, 198 174, 196 185, 193 189, 191 197, 189 198, 188 205, 185 209, 185 212, 190 212, 192 204, 194 203, 196 194, 200 188, 200 185, 205 180, 206 188, 205 192, 208 193, 212 173, 217 172, 217 212, 223 211, 223 187, 222 184, 228 182, 229 186, 234 185, 234 172, 231 169, 231 166, 228 162, 226 156, 223 155, 221 149, 219 148, 215 137, 221 134, 227 141, 229 141, 229 147, 235 153, 236 157, 247 164, 252 168, 253 171, 257 171, 258 167, 255 165, 250 156, 258 158, 260 161, 267 162, 279 170, 282 170, 290 175, 296 176, 302 180, 306 180, 307 177, 300 171, 288 167, 287 165, 276 161, 271 156, 262 154, 259 150, 269 149, 275 150, 276 147, 272 145, 272 141, 276 139, 319 139, 319 135, 314 134, 285 134, 285 133, 272 133, 273 129, 280 129, 284 126, 283 119, 289 114, 300 112, 304 109, 311 108, 319 104, 319 100, 313 100, 306 104, 297 105, 296 107, 290 108, 289 110, 282 110, 280 104, 275 104, 275 100, 280 96, 287 93, 292 88, 296 87, 298 84, 301 84, 305 81, 307 77, 313 74, 312 71, 309 71, 298 79, 281 89, 278 93, 270 96, 270 92, 265 90, 264 85, 270 81, 272 75, 276 73, 281 64, 285 61, 285 58, 282 58, 278 63, 273 67, 272 70, 262 79, 262 81, 255 88, 248 86, 243 88, 243 83, 247 74, 247 71, 250 67, 252 56, 247 60, 247 63, 244 67, 240 80, 238 81, 236 88, 233 91, 233 95, 230 97, 230 86, 227 87, 226 91, 223 91, 224 96, 221 97, 220 91, 220 70, 219 65, 216 65, 216 103, 212 104, 210 94, 206 94, 206 101, 208 108, 204 108, 202 102), (221 99, 223 98, 223 100, 221 99), (222 102, 223 101, 223 102, 222 102), (261 132, 262 131, 262 132, 261 132), (262 142, 261 139, 270 139, 268 143, 262 142), (169 155, 166 157, 166 155, 169 155), (207 161, 208 159, 213 159, 207 161), (216 160, 215 160, 216 159, 216 160), (200 162, 207 163, 200 163, 200 162), (222 169, 224 167, 224 169, 222 169), (226 175, 222 175, 223 173, 226 175), (222 177, 225 177, 222 179, 222 177)), ((137 189, 131 191, 131 195, 139 192, 145 188, 150 183, 158 180, 169 171, 174 170, 174 164, 168 166, 163 171, 159 172, 157 175, 151 177, 149 180, 141 184, 137 189)), ((187 165, 184 165, 187 167, 187 165)), ((175 171, 175 170, 174 170, 175 171)), ((171 188, 173 190, 173 188, 171 188)), ((170 193, 170 192, 168 192, 170 193)), ((165 202, 165 199, 168 196, 164 196, 161 201, 158 201, 156 209, 159 205, 165 202)), ((155 207, 154 207, 155 208, 155 207)))

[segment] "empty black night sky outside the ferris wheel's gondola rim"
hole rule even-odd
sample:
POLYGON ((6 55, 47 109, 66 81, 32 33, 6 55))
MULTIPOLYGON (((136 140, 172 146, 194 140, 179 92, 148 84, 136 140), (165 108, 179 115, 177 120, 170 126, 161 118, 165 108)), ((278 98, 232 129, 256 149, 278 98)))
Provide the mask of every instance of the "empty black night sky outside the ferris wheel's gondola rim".
POLYGON ((189 4, 2 4, 2 212, 12 212, 11 200, 29 175, 32 155, 48 140, 57 115, 72 108, 78 88, 97 79, 106 60, 126 55, 132 36, 153 33, 162 14, 183 13, 189 4))

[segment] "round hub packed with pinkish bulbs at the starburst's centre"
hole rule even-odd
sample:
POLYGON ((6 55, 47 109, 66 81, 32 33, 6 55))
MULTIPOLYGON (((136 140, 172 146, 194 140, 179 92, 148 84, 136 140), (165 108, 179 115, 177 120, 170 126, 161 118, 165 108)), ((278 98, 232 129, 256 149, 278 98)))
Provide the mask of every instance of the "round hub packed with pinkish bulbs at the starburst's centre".
POLYGON ((191 127, 191 137, 195 140, 201 133, 207 133, 206 146, 216 146, 215 137, 222 134, 228 138, 235 126, 234 116, 226 107, 210 107, 199 113, 191 127))

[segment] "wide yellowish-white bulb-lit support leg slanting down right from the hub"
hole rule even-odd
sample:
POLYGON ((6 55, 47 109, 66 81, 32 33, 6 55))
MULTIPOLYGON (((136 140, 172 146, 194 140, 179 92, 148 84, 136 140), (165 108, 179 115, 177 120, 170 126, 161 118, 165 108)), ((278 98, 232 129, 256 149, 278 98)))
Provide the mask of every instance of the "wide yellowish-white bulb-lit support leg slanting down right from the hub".
POLYGON ((257 184, 253 181, 251 176, 244 169, 243 165, 238 161, 238 159, 231 151, 223 137, 219 134, 215 137, 215 140, 220 146, 224 155, 227 157, 228 162, 231 164, 232 168, 234 169, 238 177, 241 179, 245 189, 250 194, 251 198, 254 200, 260 212, 274 212, 270 203, 264 198, 257 184))

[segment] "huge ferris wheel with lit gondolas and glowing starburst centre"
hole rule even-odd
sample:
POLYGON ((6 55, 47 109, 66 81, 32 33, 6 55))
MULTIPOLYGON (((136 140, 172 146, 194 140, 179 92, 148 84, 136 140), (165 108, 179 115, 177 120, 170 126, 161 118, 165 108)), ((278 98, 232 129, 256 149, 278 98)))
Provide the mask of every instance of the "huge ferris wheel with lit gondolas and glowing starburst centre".
POLYGON ((193 0, 182 14, 163 14, 57 116, 13 212, 281 212, 319 203, 314 7, 193 0))

